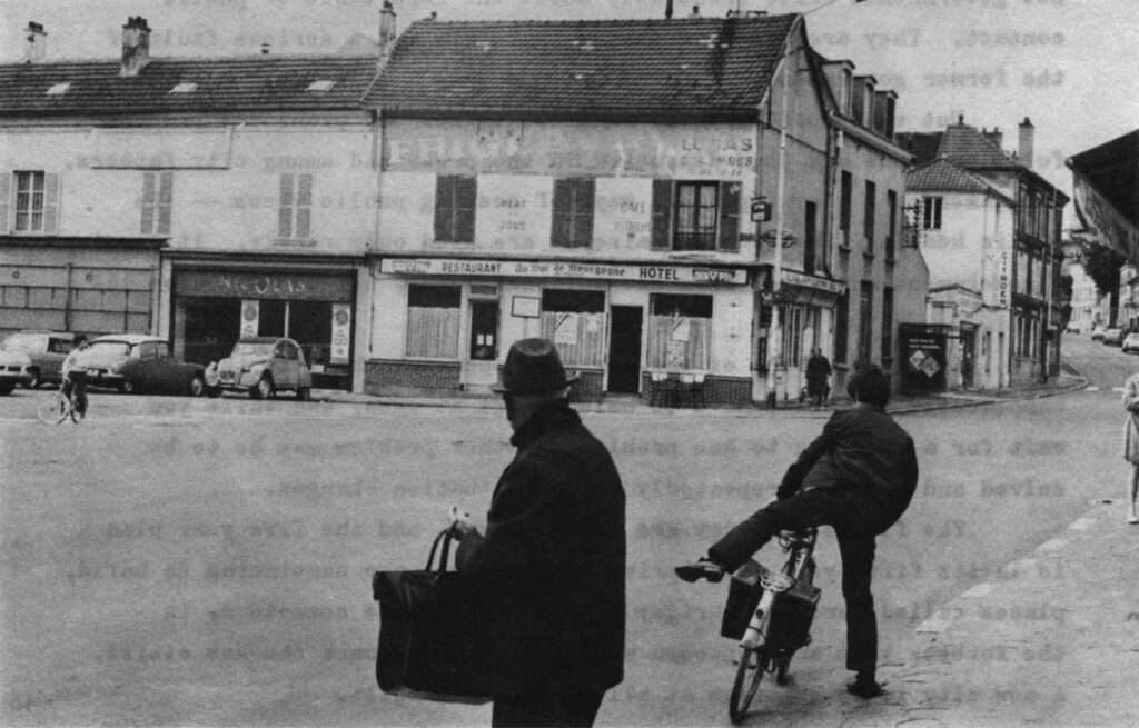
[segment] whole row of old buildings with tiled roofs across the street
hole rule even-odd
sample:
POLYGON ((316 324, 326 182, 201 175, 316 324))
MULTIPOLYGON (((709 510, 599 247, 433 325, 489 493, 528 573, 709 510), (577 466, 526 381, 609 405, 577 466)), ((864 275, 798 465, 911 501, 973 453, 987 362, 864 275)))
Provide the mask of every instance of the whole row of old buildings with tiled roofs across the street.
POLYGON ((1067 198, 999 133, 894 129, 803 16, 435 19, 378 53, 0 66, 0 329, 207 362, 295 338, 318 384, 483 391, 554 339, 583 396, 796 397, 813 348, 903 388, 1055 366, 1067 198), (773 315, 775 314, 775 315, 773 315), (778 325, 772 325, 775 320, 778 325))

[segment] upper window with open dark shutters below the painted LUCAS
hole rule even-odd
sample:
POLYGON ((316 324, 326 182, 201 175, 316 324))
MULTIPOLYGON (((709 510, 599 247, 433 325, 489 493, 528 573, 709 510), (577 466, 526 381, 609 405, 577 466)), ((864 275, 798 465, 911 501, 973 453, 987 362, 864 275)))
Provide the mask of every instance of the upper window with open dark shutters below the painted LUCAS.
POLYGON ((739 182, 653 181, 653 248, 739 249, 739 182))

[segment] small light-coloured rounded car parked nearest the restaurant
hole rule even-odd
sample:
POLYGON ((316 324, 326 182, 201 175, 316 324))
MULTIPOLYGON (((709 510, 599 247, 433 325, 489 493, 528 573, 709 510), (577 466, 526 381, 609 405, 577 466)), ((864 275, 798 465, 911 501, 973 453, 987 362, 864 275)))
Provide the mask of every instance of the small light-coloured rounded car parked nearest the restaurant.
POLYGON ((249 397, 272 397, 292 389, 297 399, 308 399, 312 391, 312 374, 304 363, 301 346, 284 337, 246 337, 238 339, 233 351, 206 367, 210 394, 222 390, 247 391, 249 397))

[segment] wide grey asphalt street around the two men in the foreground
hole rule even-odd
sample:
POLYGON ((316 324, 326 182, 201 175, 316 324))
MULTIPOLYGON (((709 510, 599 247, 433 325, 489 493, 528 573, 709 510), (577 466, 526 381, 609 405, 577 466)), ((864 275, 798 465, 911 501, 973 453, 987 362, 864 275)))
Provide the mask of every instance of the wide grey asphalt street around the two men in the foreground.
MULTIPOLYGON (((1059 397, 900 415, 921 482, 879 539, 882 677, 917 659, 947 605, 1124 493, 1118 387, 1139 357, 1066 337, 1092 387, 1059 397)), ((46 391, 0 398, 2 725, 489 725, 489 706, 385 696, 372 676, 376 569, 420 568, 445 511, 482 522, 511 456, 494 410, 96 394, 82 425, 34 417, 46 391)), ((629 495, 626 679, 599 725, 728 725, 736 647, 724 585, 686 585, 700 553, 773 497, 818 417, 715 411, 588 414, 629 495)), ((1123 512, 1120 512, 1120 519, 1123 512)), ((772 547, 759 560, 773 564, 772 547)), ((814 642, 755 725, 872 725, 843 686, 837 548, 818 549, 814 642), (863 721, 865 722, 860 722, 863 721)), ((1056 566, 1034 574, 1064 582, 1056 566)), ((956 609, 956 607, 954 607, 956 609)), ((1009 725, 1050 725, 1080 661, 1048 603, 986 619, 1055 622, 1038 650, 947 653, 977 670, 1052 661, 1055 685, 985 686, 1009 725)), ((928 655, 926 655, 928 657, 928 655)), ((947 695, 952 698, 952 686, 947 695)))

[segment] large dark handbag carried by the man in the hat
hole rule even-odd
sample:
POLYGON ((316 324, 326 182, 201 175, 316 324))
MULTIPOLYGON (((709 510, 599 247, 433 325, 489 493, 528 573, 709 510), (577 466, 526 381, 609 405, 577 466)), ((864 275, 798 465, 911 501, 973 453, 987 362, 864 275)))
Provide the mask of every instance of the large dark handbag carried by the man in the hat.
POLYGON ((393 695, 451 703, 491 700, 491 645, 484 593, 472 577, 446 571, 451 535, 435 537, 421 571, 377 571, 379 602, 376 682, 393 695), (442 559, 433 568, 442 543, 442 559))

